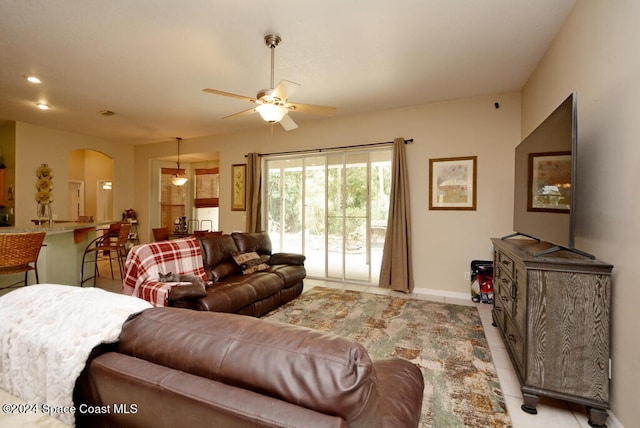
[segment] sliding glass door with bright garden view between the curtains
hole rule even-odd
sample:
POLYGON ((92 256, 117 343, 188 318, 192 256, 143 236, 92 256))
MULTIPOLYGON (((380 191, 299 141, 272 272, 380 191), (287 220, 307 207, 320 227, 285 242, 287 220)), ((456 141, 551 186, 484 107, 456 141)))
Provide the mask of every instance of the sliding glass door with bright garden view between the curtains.
POLYGON ((306 255, 309 277, 377 283, 390 148, 269 158, 265 180, 274 251, 306 255))

